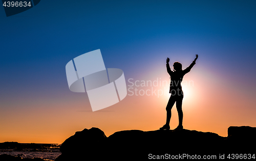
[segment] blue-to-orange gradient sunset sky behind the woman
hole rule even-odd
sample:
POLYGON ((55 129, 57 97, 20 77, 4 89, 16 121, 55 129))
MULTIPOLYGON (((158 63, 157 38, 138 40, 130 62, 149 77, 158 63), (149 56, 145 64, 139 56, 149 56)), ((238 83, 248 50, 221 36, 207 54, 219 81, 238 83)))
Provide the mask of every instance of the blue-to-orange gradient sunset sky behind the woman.
MULTIPOLYGON (((157 130, 169 99, 166 58, 185 69, 196 54, 182 83, 183 127, 223 137, 229 126, 255 127, 255 7, 256 1, 44 0, 9 17, 0 7, 0 142, 62 143, 91 127, 107 137, 157 130), (96 49, 106 68, 123 70, 127 96, 92 112, 87 93, 69 90, 65 67, 96 49)), ((177 125, 174 105, 170 128, 177 125)))

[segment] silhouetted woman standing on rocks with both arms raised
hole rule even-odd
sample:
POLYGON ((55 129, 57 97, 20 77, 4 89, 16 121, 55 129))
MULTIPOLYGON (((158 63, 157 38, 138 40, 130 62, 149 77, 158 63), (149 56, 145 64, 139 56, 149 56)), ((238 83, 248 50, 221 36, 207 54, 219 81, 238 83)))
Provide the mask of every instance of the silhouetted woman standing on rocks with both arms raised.
POLYGON ((182 70, 182 65, 179 62, 174 63, 174 71, 170 70, 169 61, 170 59, 166 59, 166 69, 167 72, 170 75, 170 90, 169 93, 170 98, 166 106, 166 124, 163 125, 163 127, 160 127, 160 129, 170 129, 169 123, 170 123, 170 117, 172 116, 172 108, 174 103, 176 102, 176 108, 178 111, 179 116, 179 125, 176 129, 183 129, 182 126, 182 120, 183 120, 183 112, 182 112, 182 99, 183 99, 183 91, 181 88, 181 82, 183 79, 183 76, 190 71, 190 69, 196 64, 196 60, 198 58, 198 55, 196 55, 195 60, 184 70, 182 70))

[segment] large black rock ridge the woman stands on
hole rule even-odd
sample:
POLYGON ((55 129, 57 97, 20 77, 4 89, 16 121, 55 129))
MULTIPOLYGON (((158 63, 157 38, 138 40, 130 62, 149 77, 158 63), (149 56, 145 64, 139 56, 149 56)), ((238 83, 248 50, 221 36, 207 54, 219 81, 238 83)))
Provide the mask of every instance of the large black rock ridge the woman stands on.
POLYGON ((124 130, 108 138, 99 128, 84 129, 68 138, 60 147, 61 160, 148 159, 148 154, 255 153, 256 127, 229 127, 228 137, 196 130, 124 130))

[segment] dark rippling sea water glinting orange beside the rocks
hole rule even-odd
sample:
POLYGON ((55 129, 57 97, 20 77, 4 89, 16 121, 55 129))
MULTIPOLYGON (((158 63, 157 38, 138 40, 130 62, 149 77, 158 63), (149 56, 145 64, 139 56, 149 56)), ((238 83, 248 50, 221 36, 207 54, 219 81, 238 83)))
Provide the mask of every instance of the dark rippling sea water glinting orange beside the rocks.
MULTIPOLYGON (((26 144, 24 144, 26 145, 26 144)), ((35 158, 39 157, 45 160, 55 160, 61 152, 59 151, 59 144, 37 144, 40 145, 36 148, 5 148, 0 149, 0 155, 2 154, 9 154, 13 156, 20 156, 22 158, 35 158)))

